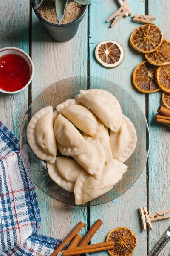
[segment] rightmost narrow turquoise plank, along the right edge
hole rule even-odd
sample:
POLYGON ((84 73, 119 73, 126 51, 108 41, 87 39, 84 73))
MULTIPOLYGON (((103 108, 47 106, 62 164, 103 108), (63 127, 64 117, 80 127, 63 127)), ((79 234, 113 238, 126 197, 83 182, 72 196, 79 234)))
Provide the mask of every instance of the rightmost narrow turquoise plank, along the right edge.
MULTIPOLYGON (((164 38, 170 40, 170 21, 167 1, 151 1, 148 3, 149 15, 155 15, 155 24, 159 26, 164 38)), ((161 93, 149 95, 149 125, 150 125, 150 154, 149 154, 149 212, 156 213, 163 209, 170 209, 170 129, 154 121, 157 108, 161 105, 161 93)), ((153 230, 149 232, 149 250, 161 238, 170 225, 169 219, 153 223, 153 230)), ((170 254, 170 243, 162 250, 160 256, 170 254)))

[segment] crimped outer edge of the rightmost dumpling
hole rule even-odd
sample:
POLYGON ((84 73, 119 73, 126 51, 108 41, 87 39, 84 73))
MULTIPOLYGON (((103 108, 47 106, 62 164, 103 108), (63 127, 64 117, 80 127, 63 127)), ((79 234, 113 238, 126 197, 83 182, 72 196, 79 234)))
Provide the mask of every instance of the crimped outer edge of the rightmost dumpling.
POLYGON ((123 153, 119 157, 117 157, 117 159, 122 163, 124 163, 131 156, 131 154, 136 148, 136 142, 137 142, 136 130, 133 123, 130 121, 130 119, 127 116, 124 116, 124 115, 123 115, 123 120, 125 121, 127 125, 127 129, 129 131, 129 143, 125 148, 125 151, 123 151, 123 153))

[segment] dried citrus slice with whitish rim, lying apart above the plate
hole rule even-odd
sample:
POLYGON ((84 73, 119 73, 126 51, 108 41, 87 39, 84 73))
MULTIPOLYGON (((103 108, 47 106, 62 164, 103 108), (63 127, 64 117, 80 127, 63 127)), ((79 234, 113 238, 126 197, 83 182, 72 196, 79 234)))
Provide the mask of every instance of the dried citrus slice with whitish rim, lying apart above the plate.
POLYGON ((103 67, 113 68, 122 63, 125 57, 125 52, 118 42, 105 40, 96 46, 95 57, 103 67))

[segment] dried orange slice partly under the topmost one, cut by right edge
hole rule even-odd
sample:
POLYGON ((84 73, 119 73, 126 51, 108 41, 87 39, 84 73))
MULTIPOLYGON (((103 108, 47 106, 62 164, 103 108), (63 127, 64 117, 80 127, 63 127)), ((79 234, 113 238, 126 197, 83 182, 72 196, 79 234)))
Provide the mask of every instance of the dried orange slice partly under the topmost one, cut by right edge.
POLYGON ((156 51, 146 53, 145 57, 147 61, 156 66, 170 64, 170 41, 163 39, 156 51))

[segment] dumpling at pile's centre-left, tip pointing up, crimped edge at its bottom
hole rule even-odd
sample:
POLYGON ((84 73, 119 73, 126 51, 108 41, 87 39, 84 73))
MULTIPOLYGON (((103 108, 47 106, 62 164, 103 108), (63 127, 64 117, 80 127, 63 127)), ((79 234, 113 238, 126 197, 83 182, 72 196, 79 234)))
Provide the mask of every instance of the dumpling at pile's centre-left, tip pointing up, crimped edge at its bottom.
POLYGON ((89 150, 82 134, 61 114, 55 120, 54 134, 58 142, 57 147, 63 155, 75 156, 89 150))

